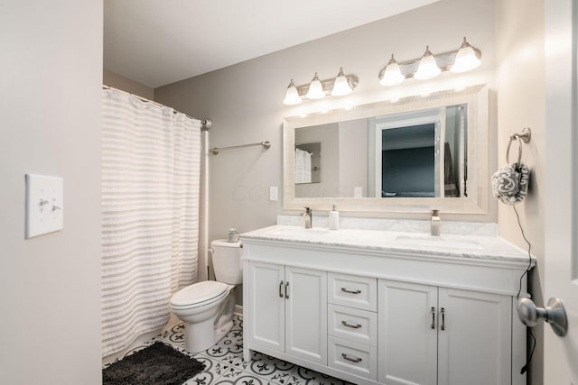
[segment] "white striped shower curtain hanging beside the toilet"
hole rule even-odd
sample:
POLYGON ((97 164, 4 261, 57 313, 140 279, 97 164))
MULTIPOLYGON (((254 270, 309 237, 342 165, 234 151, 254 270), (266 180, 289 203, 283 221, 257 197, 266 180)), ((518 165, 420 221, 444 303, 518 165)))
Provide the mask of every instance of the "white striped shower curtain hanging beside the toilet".
POLYGON ((103 90, 102 355, 166 324, 197 278, 200 121, 103 90))

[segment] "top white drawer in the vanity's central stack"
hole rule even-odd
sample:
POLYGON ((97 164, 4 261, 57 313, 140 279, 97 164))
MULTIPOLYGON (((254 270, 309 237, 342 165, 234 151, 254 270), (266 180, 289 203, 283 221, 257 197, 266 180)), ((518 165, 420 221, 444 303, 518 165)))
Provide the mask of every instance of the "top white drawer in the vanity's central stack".
POLYGON ((330 303, 377 311, 378 280, 375 278, 329 273, 328 280, 330 303))

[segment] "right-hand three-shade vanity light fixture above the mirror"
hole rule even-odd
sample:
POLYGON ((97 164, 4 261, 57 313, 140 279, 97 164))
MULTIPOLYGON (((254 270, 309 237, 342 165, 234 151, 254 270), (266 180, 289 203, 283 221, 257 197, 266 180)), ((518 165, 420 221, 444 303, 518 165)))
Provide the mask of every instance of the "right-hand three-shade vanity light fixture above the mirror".
POLYGON ((466 72, 479 67, 480 59, 481 51, 473 47, 464 37, 459 50, 435 56, 429 50, 429 46, 425 47, 424 55, 420 59, 398 63, 391 55, 385 69, 379 72, 379 83, 382 86, 396 86, 406 78, 425 80, 435 78, 447 70, 454 73, 466 72))

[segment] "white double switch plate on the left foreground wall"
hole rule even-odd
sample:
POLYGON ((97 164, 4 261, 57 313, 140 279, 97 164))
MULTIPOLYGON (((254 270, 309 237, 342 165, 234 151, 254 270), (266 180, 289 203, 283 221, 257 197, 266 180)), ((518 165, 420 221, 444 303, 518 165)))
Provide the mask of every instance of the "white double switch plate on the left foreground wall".
POLYGON ((62 179, 26 174, 26 238, 62 230, 62 179))

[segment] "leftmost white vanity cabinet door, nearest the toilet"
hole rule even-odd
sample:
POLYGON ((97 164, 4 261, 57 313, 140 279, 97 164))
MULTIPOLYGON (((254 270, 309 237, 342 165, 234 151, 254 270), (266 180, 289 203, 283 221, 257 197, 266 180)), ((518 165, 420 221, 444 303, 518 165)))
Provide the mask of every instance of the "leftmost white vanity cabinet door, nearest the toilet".
POLYGON ((249 262, 249 341, 284 352, 284 266, 249 262))

